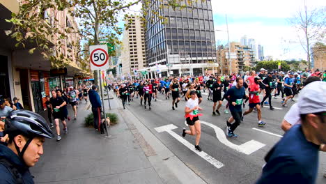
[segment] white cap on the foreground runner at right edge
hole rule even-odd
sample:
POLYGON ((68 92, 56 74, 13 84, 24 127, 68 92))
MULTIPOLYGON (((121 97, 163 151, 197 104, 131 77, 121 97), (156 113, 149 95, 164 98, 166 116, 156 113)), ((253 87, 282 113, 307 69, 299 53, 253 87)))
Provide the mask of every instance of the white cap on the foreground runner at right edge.
POLYGON ((326 82, 316 81, 304 86, 297 101, 300 114, 326 112, 326 82))

